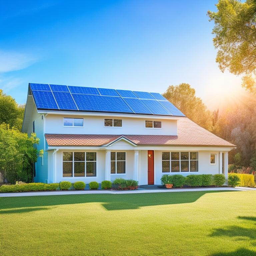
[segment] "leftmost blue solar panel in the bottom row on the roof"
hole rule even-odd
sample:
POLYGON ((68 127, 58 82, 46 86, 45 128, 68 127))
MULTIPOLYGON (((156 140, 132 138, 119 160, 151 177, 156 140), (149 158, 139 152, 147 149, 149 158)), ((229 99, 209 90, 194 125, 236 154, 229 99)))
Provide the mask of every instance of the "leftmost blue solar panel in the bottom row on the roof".
POLYGON ((32 91, 32 94, 37 108, 59 109, 52 92, 32 91))

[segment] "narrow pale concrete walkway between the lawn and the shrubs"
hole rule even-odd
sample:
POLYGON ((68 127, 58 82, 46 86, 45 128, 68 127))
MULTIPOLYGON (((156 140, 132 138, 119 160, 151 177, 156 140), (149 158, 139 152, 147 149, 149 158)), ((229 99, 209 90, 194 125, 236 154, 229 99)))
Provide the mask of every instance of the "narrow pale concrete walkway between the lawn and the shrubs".
POLYGON ((54 191, 33 191, 33 192, 0 192, 0 197, 16 197, 16 196, 50 196, 50 195, 77 195, 77 194, 135 194, 135 193, 159 193, 159 192, 188 192, 188 191, 247 191, 256 190, 256 188, 248 187, 213 187, 213 188, 171 188, 162 189, 158 186, 155 188, 141 188, 136 190, 54 190, 54 191))

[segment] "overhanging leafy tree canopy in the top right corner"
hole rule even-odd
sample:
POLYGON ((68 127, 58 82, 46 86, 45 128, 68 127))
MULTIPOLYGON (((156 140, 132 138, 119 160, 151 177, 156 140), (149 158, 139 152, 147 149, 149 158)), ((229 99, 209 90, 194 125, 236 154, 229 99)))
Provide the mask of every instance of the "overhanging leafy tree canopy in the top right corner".
POLYGON ((222 72, 243 75, 242 86, 256 92, 256 0, 219 0, 216 7, 207 13, 215 23, 216 62, 222 72))

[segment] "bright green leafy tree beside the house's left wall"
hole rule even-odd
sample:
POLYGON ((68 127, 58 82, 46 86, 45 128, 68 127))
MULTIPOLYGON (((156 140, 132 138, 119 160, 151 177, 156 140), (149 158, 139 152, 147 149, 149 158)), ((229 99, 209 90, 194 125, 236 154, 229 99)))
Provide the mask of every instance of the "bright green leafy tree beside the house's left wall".
POLYGON ((13 184, 16 180, 33 180, 32 163, 40 153, 33 145, 38 143, 35 133, 28 137, 8 124, 0 124, 0 183, 4 178, 13 184))

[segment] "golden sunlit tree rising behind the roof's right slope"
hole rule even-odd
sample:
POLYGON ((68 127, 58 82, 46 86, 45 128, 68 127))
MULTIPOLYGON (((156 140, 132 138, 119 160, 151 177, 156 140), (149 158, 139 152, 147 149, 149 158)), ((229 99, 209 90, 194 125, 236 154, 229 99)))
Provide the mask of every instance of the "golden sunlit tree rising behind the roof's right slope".
POLYGON ((162 95, 193 122, 210 130, 211 112, 195 93, 189 84, 182 83, 169 86, 162 95))

